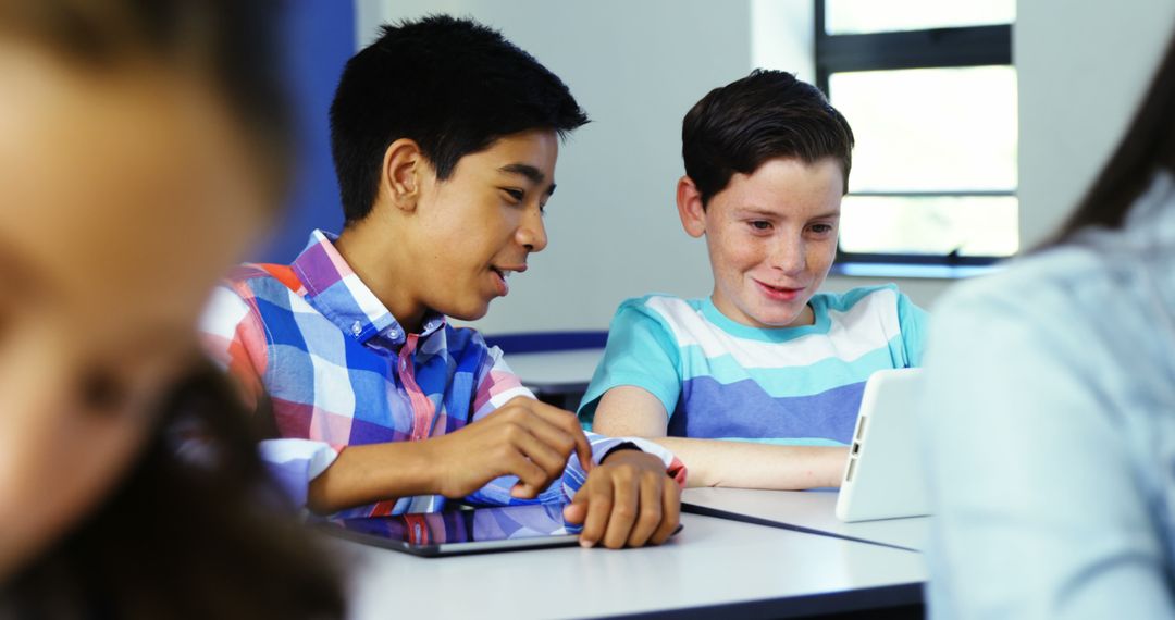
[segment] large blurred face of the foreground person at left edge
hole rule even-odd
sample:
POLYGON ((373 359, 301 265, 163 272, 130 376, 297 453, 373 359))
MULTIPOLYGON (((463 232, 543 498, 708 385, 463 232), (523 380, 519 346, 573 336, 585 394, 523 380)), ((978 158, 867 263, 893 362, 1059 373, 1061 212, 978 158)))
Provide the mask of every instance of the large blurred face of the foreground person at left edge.
POLYGON ((0 39, 0 581, 115 484, 260 230, 201 83, 85 74, 0 39))

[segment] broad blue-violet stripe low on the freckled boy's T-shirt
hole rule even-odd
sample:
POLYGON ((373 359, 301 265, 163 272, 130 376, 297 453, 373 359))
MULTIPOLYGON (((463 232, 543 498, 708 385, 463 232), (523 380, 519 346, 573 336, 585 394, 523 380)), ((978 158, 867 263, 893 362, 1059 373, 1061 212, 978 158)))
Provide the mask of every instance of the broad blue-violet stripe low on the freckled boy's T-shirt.
POLYGON ((772 398, 753 380, 721 384, 711 377, 685 382, 669 420, 671 437, 832 439, 853 436, 865 383, 813 396, 772 398))

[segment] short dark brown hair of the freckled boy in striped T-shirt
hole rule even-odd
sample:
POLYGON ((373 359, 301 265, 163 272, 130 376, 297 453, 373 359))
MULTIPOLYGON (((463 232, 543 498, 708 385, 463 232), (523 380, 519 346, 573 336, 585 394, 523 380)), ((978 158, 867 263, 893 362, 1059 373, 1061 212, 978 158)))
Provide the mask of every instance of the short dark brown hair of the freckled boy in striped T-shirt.
POLYGON ((790 73, 756 69, 690 108, 682 123, 682 157, 703 205, 736 173, 752 174, 776 157, 808 164, 834 157, 847 193, 853 130, 814 86, 790 73))

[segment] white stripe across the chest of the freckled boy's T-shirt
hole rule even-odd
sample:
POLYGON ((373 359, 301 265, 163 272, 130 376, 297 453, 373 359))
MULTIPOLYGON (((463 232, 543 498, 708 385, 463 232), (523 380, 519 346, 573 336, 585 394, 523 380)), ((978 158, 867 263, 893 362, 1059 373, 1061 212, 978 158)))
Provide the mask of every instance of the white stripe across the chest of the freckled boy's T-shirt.
POLYGON ((900 333, 898 297, 891 289, 867 295, 846 312, 830 310, 828 333, 801 336, 786 345, 731 336, 676 297, 651 297, 645 306, 665 318, 678 346, 700 346, 707 358, 730 355, 748 369, 808 366, 828 358, 852 362, 900 333))

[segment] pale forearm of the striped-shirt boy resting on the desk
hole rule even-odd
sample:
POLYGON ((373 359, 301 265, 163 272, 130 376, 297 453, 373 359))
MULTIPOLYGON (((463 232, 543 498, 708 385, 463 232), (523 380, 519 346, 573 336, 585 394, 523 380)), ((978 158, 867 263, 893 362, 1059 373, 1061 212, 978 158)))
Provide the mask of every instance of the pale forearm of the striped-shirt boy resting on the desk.
POLYGON ((840 486, 847 447, 656 437, 690 469, 689 486, 794 491, 840 486))

